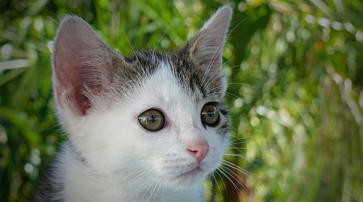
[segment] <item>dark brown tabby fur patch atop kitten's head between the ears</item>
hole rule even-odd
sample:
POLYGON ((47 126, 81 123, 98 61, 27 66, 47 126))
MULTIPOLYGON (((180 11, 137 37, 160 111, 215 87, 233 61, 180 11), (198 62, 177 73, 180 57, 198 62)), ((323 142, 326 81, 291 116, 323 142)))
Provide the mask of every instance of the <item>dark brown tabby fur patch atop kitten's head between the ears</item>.
POLYGON ((133 77, 142 75, 142 78, 139 78, 141 81, 156 74, 161 68, 171 71, 173 77, 169 75, 169 80, 163 79, 163 75, 159 75, 160 77, 156 78, 163 81, 156 87, 168 85, 169 82, 176 81, 185 93, 190 98, 197 99, 196 101, 208 99, 208 97, 212 97, 210 98, 212 100, 222 99, 221 95, 215 94, 213 78, 210 78, 204 69, 186 57, 174 54, 162 55, 155 52, 141 52, 136 56, 127 58, 126 61, 134 64, 133 66, 137 69, 137 72, 135 72, 133 77), (214 96, 213 93, 215 94, 214 96))

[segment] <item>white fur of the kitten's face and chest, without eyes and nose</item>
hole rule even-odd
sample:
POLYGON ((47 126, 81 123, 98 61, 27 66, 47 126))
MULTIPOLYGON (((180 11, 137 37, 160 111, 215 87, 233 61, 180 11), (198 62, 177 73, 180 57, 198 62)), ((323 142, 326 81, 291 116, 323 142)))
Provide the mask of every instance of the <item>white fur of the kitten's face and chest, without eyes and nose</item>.
POLYGON ((66 201, 203 201, 201 182, 219 165, 226 142, 202 126, 200 112, 209 101, 193 103, 168 65, 144 82, 135 100, 116 101, 111 110, 84 117, 62 111, 70 141, 88 160, 84 164, 69 151, 62 154, 66 201), (138 121, 150 108, 164 113, 167 126, 160 131, 147 131, 138 121), (187 146, 199 141, 210 146, 203 171, 178 177, 198 165, 187 146))

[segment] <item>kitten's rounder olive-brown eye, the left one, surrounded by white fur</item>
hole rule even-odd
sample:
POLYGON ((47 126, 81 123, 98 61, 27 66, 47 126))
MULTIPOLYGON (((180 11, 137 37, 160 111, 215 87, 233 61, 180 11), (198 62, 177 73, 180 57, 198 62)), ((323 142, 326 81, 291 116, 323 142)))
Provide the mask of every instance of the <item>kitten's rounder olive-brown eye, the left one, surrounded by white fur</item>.
POLYGON ((142 127, 149 131, 161 130, 165 125, 165 117, 157 109, 148 109, 139 116, 142 127))

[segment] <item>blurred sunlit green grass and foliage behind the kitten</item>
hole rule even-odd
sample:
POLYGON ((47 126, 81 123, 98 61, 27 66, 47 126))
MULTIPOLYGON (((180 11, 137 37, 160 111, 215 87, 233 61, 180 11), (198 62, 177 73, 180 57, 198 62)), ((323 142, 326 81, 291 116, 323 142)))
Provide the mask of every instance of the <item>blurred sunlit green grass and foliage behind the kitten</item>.
POLYGON ((205 182, 208 200, 363 202, 361 0, 0 0, 0 201, 31 201, 64 140, 50 65, 59 19, 80 16, 129 55, 125 35, 172 51, 223 4, 236 166, 205 182))

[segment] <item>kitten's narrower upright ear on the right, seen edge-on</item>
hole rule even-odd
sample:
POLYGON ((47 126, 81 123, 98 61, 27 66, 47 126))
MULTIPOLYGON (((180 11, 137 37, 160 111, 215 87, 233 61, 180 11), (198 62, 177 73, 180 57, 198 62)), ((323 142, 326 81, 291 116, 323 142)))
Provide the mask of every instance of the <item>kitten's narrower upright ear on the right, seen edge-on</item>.
POLYGON ((220 8, 197 35, 187 43, 191 58, 194 58, 204 70, 217 81, 217 90, 225 91, 226 81, 221 76, 223 46, 232 17, 232 9, 228 6, 220 8))

